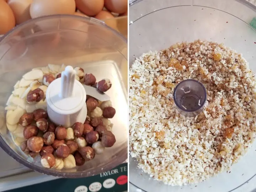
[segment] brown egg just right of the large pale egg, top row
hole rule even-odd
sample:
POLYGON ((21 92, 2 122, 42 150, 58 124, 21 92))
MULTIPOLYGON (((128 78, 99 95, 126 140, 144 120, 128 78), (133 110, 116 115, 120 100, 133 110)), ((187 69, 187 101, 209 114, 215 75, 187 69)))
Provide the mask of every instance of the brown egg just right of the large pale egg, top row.
POLYGON ((88 16, 97 15, 104 6, 104 0, 75 0, 79 11, 88 16))

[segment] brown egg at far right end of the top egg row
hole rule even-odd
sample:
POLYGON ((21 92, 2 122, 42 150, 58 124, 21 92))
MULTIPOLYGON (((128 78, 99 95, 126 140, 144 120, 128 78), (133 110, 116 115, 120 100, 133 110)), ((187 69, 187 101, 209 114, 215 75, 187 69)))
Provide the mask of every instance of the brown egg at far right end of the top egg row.
POLYGON ((128 10, 127 0, 105 0, 105 7, 114 13, 123 14, 128 10))

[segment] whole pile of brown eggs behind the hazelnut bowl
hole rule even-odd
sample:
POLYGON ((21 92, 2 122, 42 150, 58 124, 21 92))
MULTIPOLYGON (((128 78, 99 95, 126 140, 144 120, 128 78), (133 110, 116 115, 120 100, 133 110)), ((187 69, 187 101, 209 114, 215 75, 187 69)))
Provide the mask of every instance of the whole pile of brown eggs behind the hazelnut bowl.
POLYGON ((127 0, 0 0, 0 34, 31 18, 69 14, 99 20, 127 15, 127 0))

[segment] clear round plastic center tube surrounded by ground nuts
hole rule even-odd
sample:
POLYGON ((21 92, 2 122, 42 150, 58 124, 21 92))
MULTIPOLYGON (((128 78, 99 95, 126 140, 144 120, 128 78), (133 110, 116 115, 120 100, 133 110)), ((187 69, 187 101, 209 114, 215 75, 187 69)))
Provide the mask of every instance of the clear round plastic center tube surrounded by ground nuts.
POLYGON ((196 116, 203 111, 206 89, 194 79, 181 81, 174 89, 174 102, 183 115, 196 116))

